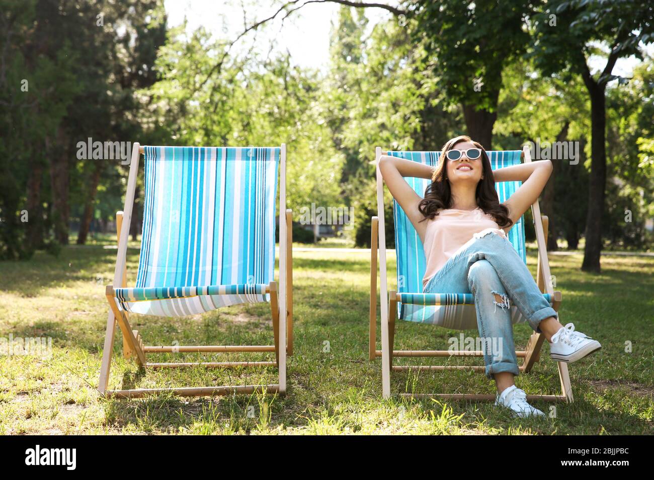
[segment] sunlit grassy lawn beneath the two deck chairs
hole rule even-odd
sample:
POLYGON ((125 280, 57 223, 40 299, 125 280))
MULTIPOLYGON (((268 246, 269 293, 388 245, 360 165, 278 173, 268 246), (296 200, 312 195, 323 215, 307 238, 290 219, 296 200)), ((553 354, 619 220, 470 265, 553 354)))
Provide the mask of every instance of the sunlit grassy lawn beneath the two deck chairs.
MULTIPOLYGON (((539 420, 512 419, 488 402, 382 400, 381 360, 368 360, 367 251, 294 253, 295 351, 288 359, 286 396, 101 399, 95 389, 107 321, 103 285, 111 283, 116 255, 103 243, 113 242, 64 248, 58 258, 38 253, 27 263, 0 263, 0 337, 52 338, 49 357, 0 356, 0 434, 654 432, 654 258, 603 257, 602 274, 589 275, 579 271, 581 255, 551 257, 557 289, 563 292, 562 323, 574 322, 577 330, 599 340, 602 350, 570 366, 574 404, 555 404, 555 417, 539 420), (630 351, 625 345, 630 345, 630 351)), ((130 285, 137 261, 137 249, 129 249, 130 285)), ((528 264, 535 272, 533 253, 528 264)), ((393 255, 389 268, 394 272, 393 255)), ((392 277, 389 274, 391 287, 392 277)), ((175 340, 181 345, 272 343, 268 304, 232 306, 181 319, 133 315, 131 322, 149 345, 170 345, 175 340)), ((396 348, 447 349, 447 339, 459 333, 400 323, 396 348)), ((526 324, 515 327, 519 349, 525 348, 530 333, 526 324)), ((477 336, 472 330, 464 334, 477 336)), ((120 337, 116 335, 111 388, 277 382, 272 368, 139 372, 135 362, 122 359, 120 337)), ((149 358, 269 359, 264 353, 172 357, 151 354, 149 358)), ((432 360, 398 363, 407 361, 432 360)), ((463 361, 483 364, 481 359, 463 361)), ((516 381, 527 393, 559 393, 557 366, 549 359, 547 345, 532 372, 516 381)), ((395 372, 391 388, 394 392, 494 393, 494 384, 483 374, 455 371, 419 376, 395 372)), ((549 413, 553 404, 534 405, 549 413)))

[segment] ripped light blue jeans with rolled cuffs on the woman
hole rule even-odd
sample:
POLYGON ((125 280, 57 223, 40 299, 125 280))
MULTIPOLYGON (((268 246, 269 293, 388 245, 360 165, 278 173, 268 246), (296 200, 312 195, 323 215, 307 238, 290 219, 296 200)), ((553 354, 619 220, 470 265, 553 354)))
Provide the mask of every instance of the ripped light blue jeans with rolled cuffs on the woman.
POLYGON ((509 300, 538 333, 540 321, 559 318, 538 289, 513 246, 492 231, 475 234, 425 285, 424 293, 472 293, 477 328, 490 379, 497 372, 519 375, 509 300), (501 302, 497 301, 498 295, 501 302))

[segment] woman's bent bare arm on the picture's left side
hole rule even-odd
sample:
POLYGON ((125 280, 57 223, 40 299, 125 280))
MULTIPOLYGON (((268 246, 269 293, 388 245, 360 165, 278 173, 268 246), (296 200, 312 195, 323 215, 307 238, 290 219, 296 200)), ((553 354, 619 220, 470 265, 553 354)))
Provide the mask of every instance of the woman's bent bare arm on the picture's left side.
POLYGON ((432 178, 434 168, 424 163, 417 163, 390 155, 382 155, 379 159, 379 171, 393 198, 400 204, 409 217, 413 227, 424 242, 426 222, 420 223, 424 216, 418 210, 422 197, 415 193, 404 177, 432 178))

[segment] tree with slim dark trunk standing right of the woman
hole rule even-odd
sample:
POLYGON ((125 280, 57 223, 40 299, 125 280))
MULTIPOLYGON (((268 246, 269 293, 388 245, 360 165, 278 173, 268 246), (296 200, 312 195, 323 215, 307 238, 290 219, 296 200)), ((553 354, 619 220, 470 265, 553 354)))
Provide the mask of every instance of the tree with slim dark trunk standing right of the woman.
POLYGON ((570 78, 579 74, 591 101, 591 175, 586 221, 586 244, 581 269, 600 271, 602 217, 606 212, 606 87, 613 80, 617 59, 643 58, 639 44, 654 41, 654 7, 636 0, 552 0, 536 16, 534 59, 545 75, 570 78), (610 50, 600 72, 588 59, 610 50))

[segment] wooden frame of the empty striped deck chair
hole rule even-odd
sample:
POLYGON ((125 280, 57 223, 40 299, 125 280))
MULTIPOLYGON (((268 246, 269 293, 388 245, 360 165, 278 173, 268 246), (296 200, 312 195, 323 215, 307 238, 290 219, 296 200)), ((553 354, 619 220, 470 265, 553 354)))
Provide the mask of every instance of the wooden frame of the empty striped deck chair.
POLYGON ((292 211, 286 209, 286 144, 281 144, 280 170, 279 170, 279 295, 277 282, 271 281, 266 287, 270 294, 270 310, 273 321, 274 345, 196 345, 196 346, 147 346, 143 345, 141 335, 132 330, 129 325, 129 313, 118 308, 114 298, 114 286, 127 286, 127 244, 129 238, 129 225, 134 204, 134 195, 137 176, 139 173, 139 159, 143 147, 134 143, 129 166, 129 179, 125 208, 123 212, 116 213, 116 230, 118 233, 118 255, 114 270, 112 285, 105 287, 105 295, 109 302, 107 315, 107 333, 102 355, 102 365, 98 383, 98 391, 107 398, 142 398, 150 394, 172 392, 178 396, 215 396, 228 394, 250 394, 252 392, 268 392, 284 394, 286 392, 286 355, 293 354, 293 295, 292 295, 292 211), (281 212, 285 212, 282 215, 281 212), (122 228, 126 225, 127 228, 122 228), (279 321, 280 312, 286 311, 286 321, 279 321), (131 389, 109 390, 109 374, 114 347, 114 334, 116 324, 123 335, 123 356, 134 358, 139 368, 184 368, 204 366, 205 368, 233 368, 239 366, 267 367, 277 366, 279 383, 274 385, 223 385, 213 387, 181 387, 166 389, 131 389), (177 363, 150 363, 146 359, 148 353, 191 353, 191 352, 274 352, 275 360, 267 362, 177 362, 177 363))

